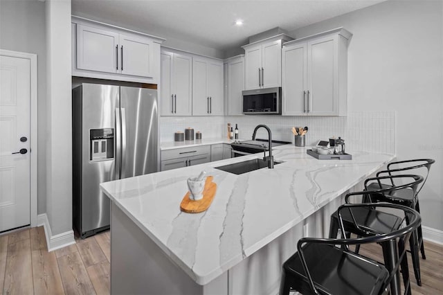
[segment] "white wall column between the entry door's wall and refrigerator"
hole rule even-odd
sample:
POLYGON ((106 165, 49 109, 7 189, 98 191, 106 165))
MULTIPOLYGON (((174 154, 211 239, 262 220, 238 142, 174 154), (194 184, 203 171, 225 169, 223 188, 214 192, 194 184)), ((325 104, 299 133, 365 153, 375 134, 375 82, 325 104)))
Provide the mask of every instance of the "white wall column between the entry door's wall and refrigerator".
POLYGON ((72 233, 71 0, 46 0, 46 214, 52 235, 72 233))

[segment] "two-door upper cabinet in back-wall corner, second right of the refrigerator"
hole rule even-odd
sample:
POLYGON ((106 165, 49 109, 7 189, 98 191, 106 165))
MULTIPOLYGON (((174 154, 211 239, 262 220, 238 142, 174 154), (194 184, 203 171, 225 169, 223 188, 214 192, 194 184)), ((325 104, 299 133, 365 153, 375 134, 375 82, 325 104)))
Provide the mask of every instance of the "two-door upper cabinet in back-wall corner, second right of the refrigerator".
POLYGON ((223 116, 223 62, 192 58, 192 116, 223 116))

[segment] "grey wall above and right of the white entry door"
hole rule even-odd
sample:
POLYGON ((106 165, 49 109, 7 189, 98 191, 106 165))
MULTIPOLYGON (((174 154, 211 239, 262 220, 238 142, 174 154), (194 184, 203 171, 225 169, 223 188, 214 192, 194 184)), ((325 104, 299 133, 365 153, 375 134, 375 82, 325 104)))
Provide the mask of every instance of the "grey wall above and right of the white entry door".
POLYGON ((37 54, 37 212, 46 212, 46 33, 41 1, 0 1, 0 48, 37 54))

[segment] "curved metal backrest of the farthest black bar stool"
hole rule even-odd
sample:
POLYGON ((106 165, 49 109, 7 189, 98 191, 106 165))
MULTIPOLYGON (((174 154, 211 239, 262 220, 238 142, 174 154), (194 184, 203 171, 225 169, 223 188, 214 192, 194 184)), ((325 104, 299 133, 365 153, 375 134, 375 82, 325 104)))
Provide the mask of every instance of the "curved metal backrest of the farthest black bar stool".
MULTIPOLYGON (((401 174, 414 174, 424 177, 424 181, 419 185, 415 196, 422 190, 426 180, 428 179, 429 170, 431 170, 432 164, 435 163, 434 159, 413 159, 405 161, 396 161, 389 163, 386 170, 379 171, 377 177, 383 175, 401 175, 401 174)), ((395 183, 391 179, 391 185, 395 186, 395 183)), ((398 179, 397 179, 398 180, 398 179)), ((398 182, 397 182, 398 184, 398 182)))

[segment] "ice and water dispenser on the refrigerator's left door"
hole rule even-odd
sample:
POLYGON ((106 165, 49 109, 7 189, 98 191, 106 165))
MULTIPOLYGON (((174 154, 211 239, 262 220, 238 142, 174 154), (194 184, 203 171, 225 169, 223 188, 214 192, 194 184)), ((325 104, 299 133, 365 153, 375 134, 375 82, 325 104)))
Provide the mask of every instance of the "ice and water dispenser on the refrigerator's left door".
POLYGON ((89 129, 89 161, 114 159, 114 128, 89 129))

